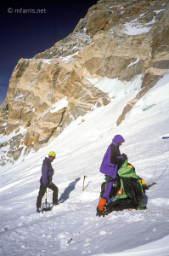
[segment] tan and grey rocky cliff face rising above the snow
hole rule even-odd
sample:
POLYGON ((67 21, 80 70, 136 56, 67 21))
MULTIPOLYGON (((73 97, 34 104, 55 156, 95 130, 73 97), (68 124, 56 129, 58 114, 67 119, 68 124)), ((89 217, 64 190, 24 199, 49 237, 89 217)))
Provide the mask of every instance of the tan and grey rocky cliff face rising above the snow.
POLYGON ((89 79, 130 81, 141 74, 142 90, 119 125, 169 68, 168 14, 166 0, 100 0, 67 38, 21 59, 0 107, 1 164, 38 150, 73 119, 108 104, 108 94, 89 79))

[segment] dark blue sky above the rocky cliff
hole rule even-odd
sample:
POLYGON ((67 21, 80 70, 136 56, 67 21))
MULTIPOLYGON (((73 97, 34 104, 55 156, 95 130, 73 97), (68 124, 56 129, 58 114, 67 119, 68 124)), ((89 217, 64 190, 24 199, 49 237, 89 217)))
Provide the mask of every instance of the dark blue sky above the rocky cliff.
POLYGON ((97 0, 5 1, 0 9, 0 104, 20 58, 32 58, 73 32, 97 0), (22 13, 16 10, 22 9, 22 13), (23 13, 42 9, 42 14, 23 13))

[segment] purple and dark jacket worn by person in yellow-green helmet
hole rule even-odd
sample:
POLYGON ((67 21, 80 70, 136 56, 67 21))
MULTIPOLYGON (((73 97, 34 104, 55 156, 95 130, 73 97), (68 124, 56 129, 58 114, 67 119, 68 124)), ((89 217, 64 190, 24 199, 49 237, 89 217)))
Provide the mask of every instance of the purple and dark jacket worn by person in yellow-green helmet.
POLYGON ((48 186, 48 183, 52 181, 54 175, 54 169, 51 165, 52 160, 45 157, 42 163, 42 183, 43 186, 48 186))

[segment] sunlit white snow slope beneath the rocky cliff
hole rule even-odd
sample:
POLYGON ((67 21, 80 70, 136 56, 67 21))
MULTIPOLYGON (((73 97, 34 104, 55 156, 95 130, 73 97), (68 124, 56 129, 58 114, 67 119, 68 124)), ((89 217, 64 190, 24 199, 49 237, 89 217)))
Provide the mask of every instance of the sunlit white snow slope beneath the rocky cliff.
MULTIPOLYGON (((140 83, 129 91, 123 84, 123 93, 120 86, 115 97, 112 86, 109 105, 76 119, 46 148, 21 156, 14 166, 1 167, 0 255, 169 255, 169 141, 162 139, 169 135, 168 81, 166 73, 119 126, 116 119, 140 83), (125 137, 121 153, 127 154, 137 174, 146 183, 157 178, 157 184, 144 199, 147 210, 111 212, 99 218, 96 207, 104 181, 99 166, 115 134, 125 137), (59 206, 39 214, 42 160, 51 150, 57 154, 53 181, 59 187, 59 206)), ((51 198, 48 191, 48 201, 51 198)))

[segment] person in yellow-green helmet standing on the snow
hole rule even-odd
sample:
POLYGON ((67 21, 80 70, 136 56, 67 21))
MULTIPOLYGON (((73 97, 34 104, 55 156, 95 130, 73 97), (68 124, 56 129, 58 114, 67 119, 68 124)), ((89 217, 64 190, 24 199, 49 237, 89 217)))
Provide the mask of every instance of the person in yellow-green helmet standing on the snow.
POLYGON ((42 205, 42 197, 45 194, 47 188, 53 190, 53 206, 58 205, 58 187, 54 185, 52 182, 52 177, 54 175, 54 169, 51 165, 53 160, 55 159, 54 151, 51 151, 48 154, 48 157, 45 157, 42 163, 42 176, 40 179, 40 188, 39 194, 37 196, 37 212, 41 212, 41 205, 42 205))

